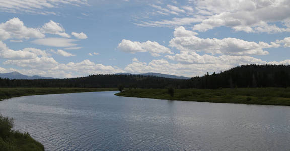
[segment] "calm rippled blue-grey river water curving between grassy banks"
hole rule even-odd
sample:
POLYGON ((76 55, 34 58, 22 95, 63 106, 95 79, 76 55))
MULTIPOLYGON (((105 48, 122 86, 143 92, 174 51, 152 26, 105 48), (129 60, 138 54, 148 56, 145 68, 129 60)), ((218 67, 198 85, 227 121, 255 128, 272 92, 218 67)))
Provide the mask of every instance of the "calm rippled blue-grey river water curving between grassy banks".
POLYGON ((116 91, 24 96, 0 113, 46 150, 289 150, 290 107, 168 101, 116 91))

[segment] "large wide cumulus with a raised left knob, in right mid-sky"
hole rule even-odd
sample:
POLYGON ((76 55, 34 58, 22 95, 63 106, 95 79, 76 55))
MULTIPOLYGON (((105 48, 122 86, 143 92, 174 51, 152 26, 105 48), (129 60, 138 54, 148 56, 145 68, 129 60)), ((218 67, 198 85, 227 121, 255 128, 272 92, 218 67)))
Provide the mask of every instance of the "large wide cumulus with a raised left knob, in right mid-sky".
MULTIPOLYGON (((182 28, 175 29, 175 37, 170 41, 170 46, 175 47, 181 51, 205 52, 210 54, 227 54, 227 55, 266 55, 265 48, 279 47, 279 44, 272 42, 271 44, 265 42, 249 42, 237 38, 199 38, 194 36, 183 36, 176 34, 182 28), (182 36, 182 37, 181 37, 182 36)), ((182 29, 183 33, 190 33, 182 29)))

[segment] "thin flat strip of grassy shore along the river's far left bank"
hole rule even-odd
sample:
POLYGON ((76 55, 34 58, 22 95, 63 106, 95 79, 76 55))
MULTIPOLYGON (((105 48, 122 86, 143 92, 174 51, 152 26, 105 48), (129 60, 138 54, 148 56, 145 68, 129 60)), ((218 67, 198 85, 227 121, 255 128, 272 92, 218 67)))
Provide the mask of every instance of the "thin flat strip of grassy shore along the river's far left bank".
POLYGON ((115 91, 115 90, 117 90, 117 88, 0 88, 0 100, 30 95, 115 91))

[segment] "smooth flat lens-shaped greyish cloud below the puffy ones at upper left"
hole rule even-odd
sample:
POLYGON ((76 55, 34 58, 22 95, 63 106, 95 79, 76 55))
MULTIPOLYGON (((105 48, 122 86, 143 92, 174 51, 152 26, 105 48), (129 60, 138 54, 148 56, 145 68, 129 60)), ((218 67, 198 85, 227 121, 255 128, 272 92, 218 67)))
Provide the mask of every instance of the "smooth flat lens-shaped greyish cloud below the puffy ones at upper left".
POLYGON ((67 38, 43 38, 32 41, 34 44, 51 46, 51 47, 74 47, 77 44, 73 43, 78 40, 67 38))

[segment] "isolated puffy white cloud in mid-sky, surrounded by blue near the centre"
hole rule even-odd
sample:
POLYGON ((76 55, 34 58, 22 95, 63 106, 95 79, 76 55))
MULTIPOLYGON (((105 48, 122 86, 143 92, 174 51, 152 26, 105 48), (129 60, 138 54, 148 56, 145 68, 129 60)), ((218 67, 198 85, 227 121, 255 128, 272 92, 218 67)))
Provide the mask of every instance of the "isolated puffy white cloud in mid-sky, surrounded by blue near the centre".
POLYGON ((117 48, 123 52, 128 53, 149 52, 154 57, 160 56, 161 53, 172 54, 169 48, 162 46, 155 41, 146 41, 141 43, 138 41, 123 39, 122 42, 119 43, 117 48))

